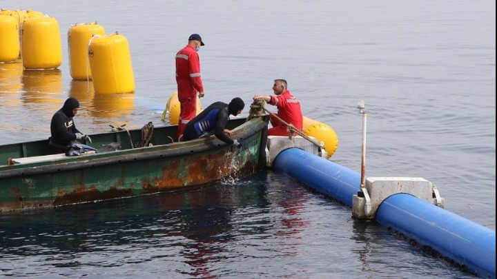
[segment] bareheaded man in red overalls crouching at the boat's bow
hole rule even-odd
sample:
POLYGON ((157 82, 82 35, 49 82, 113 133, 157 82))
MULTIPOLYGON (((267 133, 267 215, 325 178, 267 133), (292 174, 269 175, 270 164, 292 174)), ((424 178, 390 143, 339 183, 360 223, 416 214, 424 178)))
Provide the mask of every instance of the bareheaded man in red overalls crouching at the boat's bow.
MULTIPOLYGON (((288 85, 284 79, 275 79, 273 92, 276 96, 253 96, 254 101, 262 98, 266 101, 266 103, 277 107, 277 113, 270 115, 270 121, 273 127, 268 130, 268 136, 289 136, 289 127, 286 124, 291 124, 298 130, 302 131, 304 116, 302 115, 300 102, 290 93, 288 89, 286 89, 287 86, 288 85), (281 120, 286 124, 282 123, 282 121, 278 120, 274 115, 281 118, 281 120)), ((297 136, 297 133, 293 132, 293 136, 297 136)))

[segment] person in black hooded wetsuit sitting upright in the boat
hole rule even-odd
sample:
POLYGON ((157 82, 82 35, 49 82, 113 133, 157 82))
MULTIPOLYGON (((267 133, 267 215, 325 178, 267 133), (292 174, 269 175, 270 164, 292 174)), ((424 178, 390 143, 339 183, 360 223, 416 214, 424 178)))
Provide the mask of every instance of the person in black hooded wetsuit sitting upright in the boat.
POLYGON ((79 101, 70 97, 64 102, 60 110, 55 112, 50 123, 50 133, 48 138, 48 149, 51 154, 66 153, 70 149, 72 141, 86 144, 91 143, 90 136, 86 136, 77 130, 72 117, 77 114, 79 101))

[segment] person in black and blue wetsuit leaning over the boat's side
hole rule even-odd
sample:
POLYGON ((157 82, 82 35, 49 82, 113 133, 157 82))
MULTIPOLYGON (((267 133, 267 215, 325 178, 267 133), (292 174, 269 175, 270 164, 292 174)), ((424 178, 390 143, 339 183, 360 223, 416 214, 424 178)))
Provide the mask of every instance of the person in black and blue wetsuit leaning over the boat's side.
POLYGON ((217 138, 228 145, 235 145, 238 147, 240 143, 237 140, 229 138, 233 132, 228 129, 224 129, 226 123, 228 122, 230 114, 237 116, 242 113, 245 104, 242 99, 235 98, 231 100, 229 104, 223 102, 215 102, 209 105, 205 110, 200 112, 195 118, 189 121, 183 132, 182 141, 191 141, 195 138, 199 138, 204 135, 208 135, 209 132, 214 130, 214 134, 217 138))

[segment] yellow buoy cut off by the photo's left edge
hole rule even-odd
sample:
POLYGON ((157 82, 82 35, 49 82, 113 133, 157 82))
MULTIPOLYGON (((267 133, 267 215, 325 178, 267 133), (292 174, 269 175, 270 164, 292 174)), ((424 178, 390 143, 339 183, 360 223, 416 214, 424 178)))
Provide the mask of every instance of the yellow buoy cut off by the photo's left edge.
POLYGON ((0 14, 0 62, 12 62, 19 58, 19 24, 10 15, 0 14))

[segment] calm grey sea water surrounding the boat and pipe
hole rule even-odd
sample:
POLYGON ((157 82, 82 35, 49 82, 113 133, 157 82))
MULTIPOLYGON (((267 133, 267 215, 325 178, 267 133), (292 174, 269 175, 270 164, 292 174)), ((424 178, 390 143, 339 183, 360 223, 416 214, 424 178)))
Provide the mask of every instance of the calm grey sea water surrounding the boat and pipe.
MULTIPOLYGON (((284 78, 304 115, 333 127, 332 161, 430 180, 446 209, 496 229, 495 1, 2 1, 55 17, 58 70, 0 64, 1 143, 47 138, 68 96, 79 130, 168 125, 174 55, 202 35, 203 105, 272 94, 284 78), (135 94, 72 81, 67 32, 97 21, 129 43, 135 94)), ((271 109, 272 107, 268 107, 271 109)), ((248 113, 248 110, 244 112, 248 113)), ((0 216, 0 277, 472 278, 285 174, 191 192, 0 216)))

